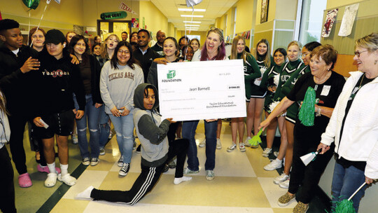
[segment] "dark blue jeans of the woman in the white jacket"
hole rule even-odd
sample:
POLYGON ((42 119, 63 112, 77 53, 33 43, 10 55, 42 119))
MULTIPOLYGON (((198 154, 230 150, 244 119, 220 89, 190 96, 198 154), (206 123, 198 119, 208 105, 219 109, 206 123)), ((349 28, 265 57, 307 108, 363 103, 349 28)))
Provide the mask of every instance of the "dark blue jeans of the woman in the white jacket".
MULTIPOLYGON (((335 170, 332 177, 332 201, 342 201, 349 197, 365 182, 365 174, 362 170, 350 166, 344 168, 339 163, 335 163, 335 170)), ((360 200, 365 194, 366 185, 351 198, 353 207, 358 212, 360 200)), ((335 207, 335 202, 332 202, 335 207)))

